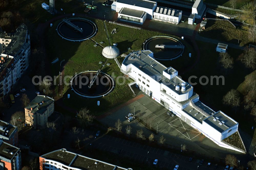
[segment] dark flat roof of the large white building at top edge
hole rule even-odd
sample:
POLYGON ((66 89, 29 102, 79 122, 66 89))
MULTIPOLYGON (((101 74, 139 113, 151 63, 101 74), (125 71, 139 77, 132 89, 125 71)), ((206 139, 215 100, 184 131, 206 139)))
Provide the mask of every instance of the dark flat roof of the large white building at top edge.
POLYGON ((147 0, 117 0, 116 2, 128 4, 128 5, 134 5, 142 8, 148 8, 153 9, 156 5, 156 2, 154 1, 147 1, 147 0))

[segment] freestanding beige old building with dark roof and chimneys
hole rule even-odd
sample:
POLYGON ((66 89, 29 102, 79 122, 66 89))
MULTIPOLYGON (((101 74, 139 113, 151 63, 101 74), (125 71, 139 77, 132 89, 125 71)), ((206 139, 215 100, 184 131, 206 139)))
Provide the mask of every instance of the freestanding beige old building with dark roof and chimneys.
POLYGON ((43 128, 52 113, 54 113, 54 99, 38 95, 25 107, 26 124, 35 128, 43 128))

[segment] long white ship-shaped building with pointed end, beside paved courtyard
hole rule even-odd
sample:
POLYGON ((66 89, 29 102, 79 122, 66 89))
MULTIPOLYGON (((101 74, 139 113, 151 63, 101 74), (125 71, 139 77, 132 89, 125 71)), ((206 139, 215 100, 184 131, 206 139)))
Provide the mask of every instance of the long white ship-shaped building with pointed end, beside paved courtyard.
POLYGON ((223 112, 215 112, 201 103, 193 87, 178 77, 178 71, 155 60, 153 52, 144 50, 127 55, 121 71, 134 79, 136 87, 146 95, 216 144, 241 152, 222 142, 238 131, 238 123, 223 112))

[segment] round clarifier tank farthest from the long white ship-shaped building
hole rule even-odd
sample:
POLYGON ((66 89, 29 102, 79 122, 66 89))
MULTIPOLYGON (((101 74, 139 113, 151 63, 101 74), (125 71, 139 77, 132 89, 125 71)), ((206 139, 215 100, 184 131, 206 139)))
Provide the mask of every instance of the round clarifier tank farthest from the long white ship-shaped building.
POLYGON ((63 19, 57 26, 57 33, 65 40, 84 41, 97 34, 97 25, 84 18, 63 19))

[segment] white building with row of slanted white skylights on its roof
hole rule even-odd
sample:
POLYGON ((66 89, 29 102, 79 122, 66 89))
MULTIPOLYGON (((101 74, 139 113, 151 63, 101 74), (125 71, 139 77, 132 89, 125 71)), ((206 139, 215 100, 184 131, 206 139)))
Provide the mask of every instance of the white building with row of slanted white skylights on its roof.
POLYGON ((182 17, 182 11, 166 7, 157 6, 154 10, 154 20, 178 24, 182 17))

